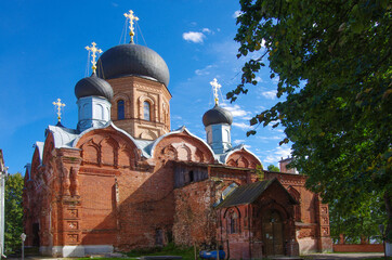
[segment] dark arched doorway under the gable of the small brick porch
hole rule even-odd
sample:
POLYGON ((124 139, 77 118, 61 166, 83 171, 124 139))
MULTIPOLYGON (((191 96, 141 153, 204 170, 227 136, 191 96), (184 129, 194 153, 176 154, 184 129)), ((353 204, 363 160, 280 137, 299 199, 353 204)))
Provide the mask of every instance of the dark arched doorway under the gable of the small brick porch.
POLYGON ((263 213, 262 240, 266 256, 285 255, 284 223, 279 212, 274 209, 263 213))

